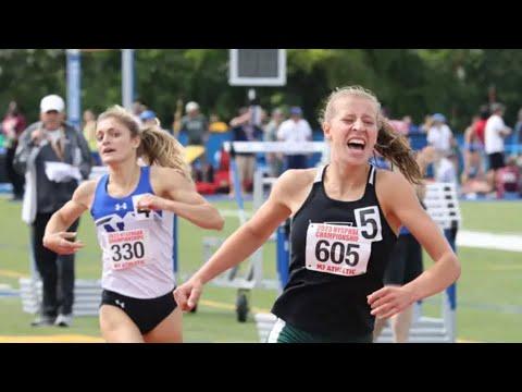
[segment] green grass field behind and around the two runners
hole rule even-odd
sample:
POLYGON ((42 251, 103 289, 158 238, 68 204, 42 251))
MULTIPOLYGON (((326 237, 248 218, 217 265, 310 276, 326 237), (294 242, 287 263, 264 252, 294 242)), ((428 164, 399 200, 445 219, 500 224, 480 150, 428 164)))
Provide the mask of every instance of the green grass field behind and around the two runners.
MULTIPOLYGON (((220 209, 235 209, 232 201, 217 203, 220 209)), ((250 205, 247 204, 247 209, 250 205)), ((496 233, 522 234, 522 203, 472 203, 461 204, 463 229, 496 233)), ((21 221, 21 205, 0 198, 2 235, 0 236, 0 284, 18 287, 18 279, 7 272, 29 274, 28 228, 21 221)), ((222 233, 203 231, 179 221, 179 269, 186 277, 203 261, 202 238, 225 237, 238 226, 238 219, 226 218, 222 233)), ((77 255, 76 275, 80 279, 99 279, 101 271, 100 250, 97 247, 94 224, 86 213, 78 236, 87 245, 77 255)), ((462 262, 462 277, 458 283, 458 338, 482 342, 522 342, 522 254, 488 249, 458 249, 462 262)), ((275 279, 275 249, 269 244, 264 250, 264 273, 275 279)), ((424 265, 431 266, 428 258, 424 265)), ((253 290, 249 304, 256 309, 270 309, 277 293, 253 290)), ((188 342, 257 342, 258 335, 252 311, 247 322, 236 321, 236 290, 206 286, 202 301, 195 314, 184 317, 184 334, 188 342)), ((440 299, 431 298, 424 311, 438 316, 440 299)), ((77 317, 69 330, 55 328, 33 329, 32 315, 22 311, 17 297, 0 297, 0 335, 34 334, 86 334, 99 336, 96 317, 77 317)))

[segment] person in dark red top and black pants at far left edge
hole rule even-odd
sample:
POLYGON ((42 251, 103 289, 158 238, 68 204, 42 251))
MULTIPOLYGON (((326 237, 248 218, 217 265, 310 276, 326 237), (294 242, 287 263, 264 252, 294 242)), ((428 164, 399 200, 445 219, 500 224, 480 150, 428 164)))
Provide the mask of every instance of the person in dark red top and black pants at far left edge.
POLYGON ((24 196, 24 176, 16 173, 13 168, 13 160, 20 135, 25 130, 25 118, 20 112, 17 103, 15 101, 9 102, 8 111, 2 121, 2 132, 5 137, 5 173, 8 174, 8 180, 13 185, 13 201, 22 200, 24 196))

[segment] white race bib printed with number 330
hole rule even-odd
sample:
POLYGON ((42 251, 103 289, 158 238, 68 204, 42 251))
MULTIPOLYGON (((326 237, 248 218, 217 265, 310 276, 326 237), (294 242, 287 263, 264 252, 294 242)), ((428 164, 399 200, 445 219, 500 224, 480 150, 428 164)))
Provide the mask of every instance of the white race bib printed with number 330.
POLYGON ((104 233, 105 252, 113 270, 142 266, 148 260, 149 231, 135 229, 104 233))

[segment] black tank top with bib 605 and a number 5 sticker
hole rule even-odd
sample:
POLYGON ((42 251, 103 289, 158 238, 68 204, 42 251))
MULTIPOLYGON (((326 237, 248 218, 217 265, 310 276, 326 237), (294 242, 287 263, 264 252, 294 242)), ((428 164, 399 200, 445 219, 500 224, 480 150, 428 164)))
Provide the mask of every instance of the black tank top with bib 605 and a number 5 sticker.
POLYGON ((371 166, 364 195, 331 199, 318 169, 312 189, 293 218, 289 280, 272 313, 303 331, 343 339, 373 331, 366 295, 383 286, 397 236, 384 218, 371 166))

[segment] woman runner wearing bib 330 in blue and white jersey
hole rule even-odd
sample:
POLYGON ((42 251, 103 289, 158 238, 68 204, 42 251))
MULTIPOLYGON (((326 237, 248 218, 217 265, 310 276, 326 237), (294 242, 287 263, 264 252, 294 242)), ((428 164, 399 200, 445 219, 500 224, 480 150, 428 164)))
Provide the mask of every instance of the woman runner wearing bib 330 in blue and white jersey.
POLYGON ((96 139, 109 174, 83 183, 52 216, 44 245, 72 254, 66 230, 90 210, 103 252, 100 329, 108 342, 182 342, 173 296, 174 215, 212 230, 223 218, 196 192, 182 145, 158 125, 139 128, 115 106, 100 114, 96 139), (138 164, 138 158, 146 166, 138 164))

